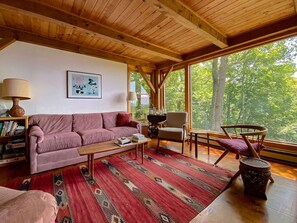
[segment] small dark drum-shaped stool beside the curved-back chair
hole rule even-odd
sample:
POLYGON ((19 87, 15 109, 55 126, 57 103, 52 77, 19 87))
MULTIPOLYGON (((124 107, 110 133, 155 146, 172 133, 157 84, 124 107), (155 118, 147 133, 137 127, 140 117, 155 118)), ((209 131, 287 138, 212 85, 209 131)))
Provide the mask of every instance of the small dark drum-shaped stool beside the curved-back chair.
POLYGON ((244 193, 267 200, 265 191, 271 176, 270 163, 253 157, 240 159, 240 173, 244 184, 244 193))

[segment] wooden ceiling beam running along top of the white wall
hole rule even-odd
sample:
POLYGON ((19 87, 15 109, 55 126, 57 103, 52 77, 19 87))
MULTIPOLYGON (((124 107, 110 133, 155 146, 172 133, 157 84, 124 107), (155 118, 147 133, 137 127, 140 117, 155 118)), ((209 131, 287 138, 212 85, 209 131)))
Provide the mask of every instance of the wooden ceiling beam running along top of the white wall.
POLYGON ((146 61, 136 60, 133 58, 127 58, 127 57, 123 57, 123 56, 113 54, 110 52, 96 50, 94 48, 85 47, 85 46, 82 46, 79 44, 64 42, 61 40, 50 39, 50 38, 39 36, 39 35, 36 35, 33 33, 18 31, 16 29, 0 27, 0 36, 4 37, 4 38, 11 38, 13 36, 17 40, 27 42, 27 43, 48 46, 48 47, 52 47, 52 48, 56 48, 56 49, 60 49, 60 50, 66 50, 66 51, 70 51, 70 52, 74 52, 74 53, 80 53, 80 54, 84 54, 84 55, 99 57, 99 58, 117 61, 117 62, 126 63, 126 64, 150 67, 153 69, 156 68, 156 66, 154 64, 147 63, 146 61))

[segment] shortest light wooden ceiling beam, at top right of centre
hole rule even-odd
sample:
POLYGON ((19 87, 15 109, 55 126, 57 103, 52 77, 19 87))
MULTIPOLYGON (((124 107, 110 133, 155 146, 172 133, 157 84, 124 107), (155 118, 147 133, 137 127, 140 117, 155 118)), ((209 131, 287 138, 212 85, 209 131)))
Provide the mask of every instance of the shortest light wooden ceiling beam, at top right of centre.
POLYGON ((220 48, 228 46, 227 37, 179 0, 143 0, 158 11, 203 36, 220 48))

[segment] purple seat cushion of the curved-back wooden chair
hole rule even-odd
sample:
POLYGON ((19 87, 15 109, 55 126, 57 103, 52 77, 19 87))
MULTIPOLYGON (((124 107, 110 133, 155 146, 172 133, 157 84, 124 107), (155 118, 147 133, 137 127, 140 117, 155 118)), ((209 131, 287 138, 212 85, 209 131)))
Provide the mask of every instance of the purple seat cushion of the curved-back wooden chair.
MULTIPOLYGON (((242 139, 218 139, 217 142, 226 149, 229 149, 230 151, 237 153, 239 155, 252 155, 247 144, 242 139)), ((264 148, 262 145, 258 143, 252 143, 252 146, 257 152, 264 148)))

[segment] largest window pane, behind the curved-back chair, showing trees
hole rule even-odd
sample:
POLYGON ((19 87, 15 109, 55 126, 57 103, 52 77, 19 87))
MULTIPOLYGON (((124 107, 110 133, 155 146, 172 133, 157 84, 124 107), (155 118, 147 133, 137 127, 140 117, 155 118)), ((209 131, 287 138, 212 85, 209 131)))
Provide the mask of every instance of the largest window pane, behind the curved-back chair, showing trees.
POLYGON ((297 38, 191 66, 192 127, 260 124, 297 143, 297 38))

